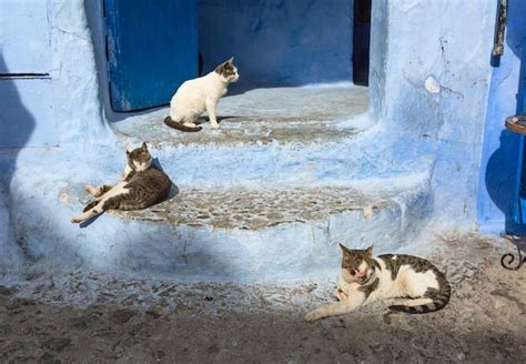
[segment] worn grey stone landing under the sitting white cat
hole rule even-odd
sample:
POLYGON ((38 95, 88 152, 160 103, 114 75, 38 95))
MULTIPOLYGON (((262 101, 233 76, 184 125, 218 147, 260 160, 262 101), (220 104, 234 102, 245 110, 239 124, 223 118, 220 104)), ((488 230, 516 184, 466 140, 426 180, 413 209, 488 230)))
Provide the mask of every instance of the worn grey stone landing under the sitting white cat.
POLYGON ((367 88, 274 88, 256 89, 225 97, 218 107, 221 129, 213 130, 203 118, 203 130, 183 133, 164 125, 168 108, 133 114, 113 123, 121 139, 192 144, 266 144, 327 143, 356 133, 353 128, 338 128, 364 113, 368 105, 367 88))

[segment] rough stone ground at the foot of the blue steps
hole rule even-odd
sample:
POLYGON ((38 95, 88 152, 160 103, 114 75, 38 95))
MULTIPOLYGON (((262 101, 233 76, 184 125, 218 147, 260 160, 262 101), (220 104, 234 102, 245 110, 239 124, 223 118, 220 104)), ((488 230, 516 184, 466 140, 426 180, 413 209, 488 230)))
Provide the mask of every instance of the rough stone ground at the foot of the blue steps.
POLYGON ((334 282, 276 285, 119 281, 37 267, 0 287, 2 363, 524 363, 526 266, 503 239, 428 236, 453 286, 425 315, 387 303, 306 323, 334 282))

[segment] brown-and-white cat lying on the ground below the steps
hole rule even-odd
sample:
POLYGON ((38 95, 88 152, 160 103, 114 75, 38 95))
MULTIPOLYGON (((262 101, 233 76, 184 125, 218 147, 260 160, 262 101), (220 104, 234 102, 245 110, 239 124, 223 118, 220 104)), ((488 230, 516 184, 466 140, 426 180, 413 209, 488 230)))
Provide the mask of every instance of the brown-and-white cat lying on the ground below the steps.
POLYGON ((451 286, 444 273, 425 259, 385 254, 373 257, 373 246, 366 250, 342 249, 342 270, 335 292, 338 303, 321 306, 305 315, 306 321, 346 314, 374 301, 408 297, 393 311, 427 313, 443 309, 449 302, 451 286))

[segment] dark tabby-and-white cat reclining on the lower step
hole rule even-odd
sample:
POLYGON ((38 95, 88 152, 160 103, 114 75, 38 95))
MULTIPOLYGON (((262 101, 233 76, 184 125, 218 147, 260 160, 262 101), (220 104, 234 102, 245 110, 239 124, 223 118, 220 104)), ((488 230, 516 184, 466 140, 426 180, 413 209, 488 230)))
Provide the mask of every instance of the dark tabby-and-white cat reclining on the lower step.
POLYGON ((172 181, 152 163, 152 155, 146 143, 133 151, 127 151, 128 165, 121 181, 115 185, 94 188, 85 185, 85 190, 95 199, 88 203, 83 213, 71 219, 80 223, 108 210, 142 210, 165 200, 170 193, 172 181))

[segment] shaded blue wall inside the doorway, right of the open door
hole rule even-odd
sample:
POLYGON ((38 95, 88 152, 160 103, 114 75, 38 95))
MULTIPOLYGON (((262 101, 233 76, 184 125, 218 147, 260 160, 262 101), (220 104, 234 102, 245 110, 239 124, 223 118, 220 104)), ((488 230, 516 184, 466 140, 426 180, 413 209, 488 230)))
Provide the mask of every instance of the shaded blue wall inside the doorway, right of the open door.
POLYGON ((204 72, 231 55, 237 88, 352 80, 352 0, 199 0, 204 72))

